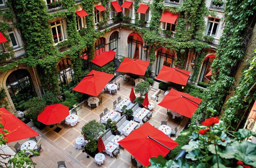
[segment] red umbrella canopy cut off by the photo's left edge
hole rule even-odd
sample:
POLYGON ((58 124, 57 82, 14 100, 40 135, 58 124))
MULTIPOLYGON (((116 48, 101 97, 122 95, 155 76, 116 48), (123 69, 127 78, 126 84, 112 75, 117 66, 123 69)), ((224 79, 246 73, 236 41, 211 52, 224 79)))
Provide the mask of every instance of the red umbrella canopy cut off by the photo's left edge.
MULTIPOLYGON (((4 107, 0 108, 0 115, 1 124, 4 126, 4 129, 9 132, 5 137, 7 142, 19 141, 39 135, 4 107)), ((0 132, 3 133, 2 130, 0 130, 0 132)))

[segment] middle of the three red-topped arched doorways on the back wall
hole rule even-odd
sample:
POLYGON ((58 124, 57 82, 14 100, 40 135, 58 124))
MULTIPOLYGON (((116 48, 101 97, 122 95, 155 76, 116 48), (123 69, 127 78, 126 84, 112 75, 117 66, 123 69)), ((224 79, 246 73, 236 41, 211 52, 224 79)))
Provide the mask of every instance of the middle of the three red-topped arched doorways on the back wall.
POLYGON ((163 65, 174 67, 174 58, 175 58, 174 51, 166 50, 162 47, 159 48, 157 50, 157 64, 155 67, 155 75, 158 75, 163 65))

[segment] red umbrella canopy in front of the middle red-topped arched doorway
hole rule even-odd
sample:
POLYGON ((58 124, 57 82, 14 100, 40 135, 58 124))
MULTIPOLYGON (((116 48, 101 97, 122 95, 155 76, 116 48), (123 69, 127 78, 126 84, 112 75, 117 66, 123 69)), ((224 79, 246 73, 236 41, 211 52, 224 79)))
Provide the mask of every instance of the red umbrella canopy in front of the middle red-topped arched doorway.
POLYGON ((190 74, 190 71, 182 70, 178 68, 172 68, 172 67, 163 65, 156 79, 170 81, 180 85, 187 85, 189 74, 190 74))

